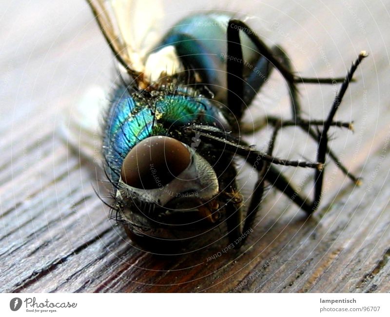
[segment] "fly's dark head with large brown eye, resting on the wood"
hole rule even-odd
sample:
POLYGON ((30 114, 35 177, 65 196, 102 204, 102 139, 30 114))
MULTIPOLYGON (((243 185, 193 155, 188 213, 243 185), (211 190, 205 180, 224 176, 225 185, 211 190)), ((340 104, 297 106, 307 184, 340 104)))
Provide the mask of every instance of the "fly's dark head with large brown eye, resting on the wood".
MULTIPOLYGON (((166 123, 167 117, 159 121, 166 123)), ((184 129, 170 125, 165 133, 143 138, 123 155, 118 170, 117 218, 133 240, 148 247, 182 245, 212 231, 226 218, 225 205, 232 199, 232 154, 184 129)))

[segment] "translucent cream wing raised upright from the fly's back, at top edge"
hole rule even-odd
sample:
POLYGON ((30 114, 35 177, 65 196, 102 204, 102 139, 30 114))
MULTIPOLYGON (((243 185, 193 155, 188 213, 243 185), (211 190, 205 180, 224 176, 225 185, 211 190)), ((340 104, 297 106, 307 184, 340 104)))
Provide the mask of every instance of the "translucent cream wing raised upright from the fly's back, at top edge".
POLYGON ((157 62, 156 56, 149 59, 148 54, 163 30, 164 7, 161 1, 88 0, 88 3, 119 65, 140 88, 148 86, 150 79, 156 79, 156 64, 163 63, 164 70, 178 67, 178 59, 171 52, 165 52, 162 58, 159 54, 157 62))

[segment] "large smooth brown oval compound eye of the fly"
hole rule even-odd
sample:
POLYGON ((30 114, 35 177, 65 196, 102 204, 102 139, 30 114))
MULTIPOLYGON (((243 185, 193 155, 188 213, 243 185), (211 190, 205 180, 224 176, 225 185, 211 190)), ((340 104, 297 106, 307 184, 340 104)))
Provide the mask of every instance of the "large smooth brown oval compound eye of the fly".
POLYGON ((190 162, 190 151, 180 141, 152 136, 130 150, 123 161, 121 177, 131 187, 156 189, 170 183, 190 162))

